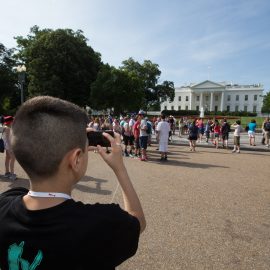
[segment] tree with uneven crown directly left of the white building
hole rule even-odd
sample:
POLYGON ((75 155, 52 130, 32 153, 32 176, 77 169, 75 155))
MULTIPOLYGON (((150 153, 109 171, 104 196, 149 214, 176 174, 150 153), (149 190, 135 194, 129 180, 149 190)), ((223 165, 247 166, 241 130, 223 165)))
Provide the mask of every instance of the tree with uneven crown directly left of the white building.
POLYGON ((170 81, 164 81, 158 84, 161 71, 157 64, 152 63, 150 60, 144 60, 143 64, 140 64, 129 58, 122 62, 121 70, 124 70, 136 76, 140 81, 144 89, 144 108, 149 109, 151 107, 159 107, 160 103, 166 99, 172 101, 175 95, 174 83, 170 81))

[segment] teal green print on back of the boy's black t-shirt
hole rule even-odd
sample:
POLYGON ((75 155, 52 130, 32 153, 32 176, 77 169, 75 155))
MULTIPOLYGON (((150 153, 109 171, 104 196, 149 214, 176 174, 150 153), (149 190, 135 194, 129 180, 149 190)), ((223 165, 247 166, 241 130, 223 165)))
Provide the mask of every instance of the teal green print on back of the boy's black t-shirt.
POLYGON ((34 261, 30 263, 22 258, 24 242, 21 242, 19 245, 13 244, 8 249, 8 263, 9 270, 35 270, 37 266, 41 263, 43 254, 39 250, 34 261), (20 267, 21 265, 21 267, 20 267))

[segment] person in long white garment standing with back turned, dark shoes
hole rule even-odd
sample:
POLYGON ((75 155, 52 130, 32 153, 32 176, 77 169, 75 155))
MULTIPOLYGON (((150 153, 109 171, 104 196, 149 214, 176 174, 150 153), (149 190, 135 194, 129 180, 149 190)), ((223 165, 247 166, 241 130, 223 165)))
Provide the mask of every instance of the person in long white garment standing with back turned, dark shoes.
POLYGON ((165 120, 165 115, 161 116, 161 122, 157 125, 157 137, 159 142, 159 151, 161 161, 167 160, 169 132, 171 131, 170 124, 165 120))

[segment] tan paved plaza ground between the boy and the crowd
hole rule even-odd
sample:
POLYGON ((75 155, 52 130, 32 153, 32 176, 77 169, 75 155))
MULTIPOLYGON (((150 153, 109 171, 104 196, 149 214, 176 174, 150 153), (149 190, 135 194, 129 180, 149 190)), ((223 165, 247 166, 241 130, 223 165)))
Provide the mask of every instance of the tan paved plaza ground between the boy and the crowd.
MULTIPOLYGON (((205 143, 194 153, 186 136, 175 136, 168 162, 159 161, 155 144, 148 162, 125 158, 147 228, 137 254, 118 269, 270 269, 270 151, 259 139, 256 147, 245 136, 242 143, 240 154, 205 143)), ((0 168, 0 191, 28 187, 18 164, 18 180, 2 177, 3 154, 0 168)), ((116 187, 110 168, 91 152, 86 176, 72 195, 110 203, 116 187)), ((114 202, 122 204, 120 190, 114 202)))

